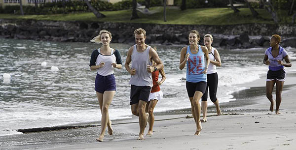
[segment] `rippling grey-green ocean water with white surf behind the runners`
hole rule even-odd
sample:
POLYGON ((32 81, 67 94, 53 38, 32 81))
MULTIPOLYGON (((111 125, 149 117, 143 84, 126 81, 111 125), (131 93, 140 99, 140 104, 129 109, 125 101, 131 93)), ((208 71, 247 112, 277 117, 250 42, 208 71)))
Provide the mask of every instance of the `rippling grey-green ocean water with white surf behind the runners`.
MULTIPOLYGON (((119 50, 123 63, 130 46, 111 44, 119 50)), ((182 80, 186 68, 179 69, 180 51, 184 46, 156 45, 167 79, 161 86, 164 98, 157 103, 155 112, 190 108, 185 80, 182 80)), ((99 47, 92 43, 0 39, 0 136, 22 134, 17 129, 101 120, 94 90, 96 71, 89 69, 90 55, 99 47), (46 66, 41 66, 43 61, 47 62, 46 66), (51 66, 59 70, 51 71, 51 66), (4 73, 9 73, 11 78, 4 79, 4 73)), ((222 59, 217 93, 221 103, 235 100, 232 92, 248 88, 236 84, 259 79, 268 70, 262 63, 264 48, 217 49, 222 59)), ((286 50, 291 59, 296 60, 296 48, 286 50)), ((289 69, 287 71, 294 71, 289 69)), ((130 75, 123 66, 115 70, 115 78, 117 91, 109 109, 110 118, 131 118, 130 75)))

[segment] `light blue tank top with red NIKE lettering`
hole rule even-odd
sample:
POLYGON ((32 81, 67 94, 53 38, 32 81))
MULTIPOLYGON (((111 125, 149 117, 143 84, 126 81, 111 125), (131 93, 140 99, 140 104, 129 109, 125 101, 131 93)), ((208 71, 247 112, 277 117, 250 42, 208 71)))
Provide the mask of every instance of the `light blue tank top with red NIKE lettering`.
POLYGON ((207 75, 202 73, 205 69, 205 58, 204 52, 201 49, 201 46, 198 45, 198 53, 192 54, 189 46, 187 47, 186 54, 189 53, 189 59, 187 61, 187 70, 186 70, 186 81, 188 82, 207 82, 207 75))

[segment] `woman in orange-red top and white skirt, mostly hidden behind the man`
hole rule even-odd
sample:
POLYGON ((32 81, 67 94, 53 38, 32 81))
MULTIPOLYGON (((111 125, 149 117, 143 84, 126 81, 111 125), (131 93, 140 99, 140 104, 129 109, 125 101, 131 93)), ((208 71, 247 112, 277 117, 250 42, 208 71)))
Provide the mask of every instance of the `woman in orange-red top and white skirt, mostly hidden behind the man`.
MULTIPOLYGON (((155 47, 153 49, 156 50, 155 47)), ((151 62, 152 62, 152 66, 155 68, 156 63, 153 60, 151 60, 151 62)), ((166 79, 166 77, 165 77, 165 73, 164 73, 163 68, 161 70, 155 69, 155 71, 152 72, 153 87, 151 89, 151 92, 149 95, 149 100, 146 105, 146 112, 149 114, 149 118, 148 118, 149 130, 146 135, 149 135, 149 136, 151 136, 153 134, 153 124, 154 124, 153 110, 156 106, 157 101, 162 99, 162 95, 163 95, 159 86, 162 85, 162 83, 165 81, 165 79, 166 79), (159 72, 162 76, 160 81, 158 81, 159 72)))

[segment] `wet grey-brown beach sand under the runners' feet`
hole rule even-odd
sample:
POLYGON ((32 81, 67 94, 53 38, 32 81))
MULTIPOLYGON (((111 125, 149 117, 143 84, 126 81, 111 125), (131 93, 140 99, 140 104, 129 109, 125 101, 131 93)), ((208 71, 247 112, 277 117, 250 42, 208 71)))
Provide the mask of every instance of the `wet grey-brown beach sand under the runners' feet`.
MULTIPOLYGON (((37 132, 0 137, 1 150, 296 150, 296 73, 287 74, 280 115, 270 112, 265 97, 265 76, 240 86, 236 100, 222 103, 223 115, 210 107, 208 121, 194 136, 195 123, 188 109, 156 113, 151 137, 139 141, 137 117, 113 120, 114 135, 96 142, 100 127, 37 132), (171 120, 170 120, 171 119, 171 120), (123 123, 123 124, 121 124, 123 123)), ((275 98, 275 95, 274 95, 275 98)), ((189 103, 189 100, 188 100, 189 103)), ((157 107, 157 106, 156 106, 157 107)), ((275 107, 274 107, 275 109, 275 107)), ((145 130, 145 134, 148 127, 145 130)))

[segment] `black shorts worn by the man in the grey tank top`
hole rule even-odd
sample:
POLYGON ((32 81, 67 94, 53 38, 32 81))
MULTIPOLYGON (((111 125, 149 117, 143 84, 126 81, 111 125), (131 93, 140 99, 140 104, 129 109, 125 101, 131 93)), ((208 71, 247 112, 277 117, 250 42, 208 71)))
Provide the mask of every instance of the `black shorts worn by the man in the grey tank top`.
POLYGON ((151 87, 131 85, 130 104, 137 104, 140 100, 148 102, 151 87))

